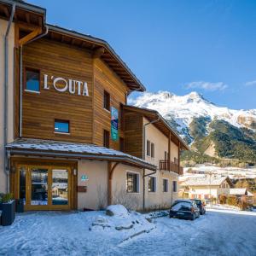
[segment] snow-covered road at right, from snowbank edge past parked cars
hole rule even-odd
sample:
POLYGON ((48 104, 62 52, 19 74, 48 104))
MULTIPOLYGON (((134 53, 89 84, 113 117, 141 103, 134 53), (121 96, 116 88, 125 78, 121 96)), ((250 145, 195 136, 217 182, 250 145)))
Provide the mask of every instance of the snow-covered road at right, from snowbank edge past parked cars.
POLYGON ((195 222, 158 218, 157 229, 120 245, 122 255, 256 255, 256 215, 207 212, 195 222))

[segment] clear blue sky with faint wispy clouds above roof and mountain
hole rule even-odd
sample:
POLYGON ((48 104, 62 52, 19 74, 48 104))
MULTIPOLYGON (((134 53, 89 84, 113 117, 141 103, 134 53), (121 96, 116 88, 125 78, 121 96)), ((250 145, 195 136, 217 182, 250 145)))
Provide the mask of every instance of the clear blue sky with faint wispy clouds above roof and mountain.
POLYGON ((254 0, 28 2, 51 24, 107 40, 148 91, 256 108, 254 0))

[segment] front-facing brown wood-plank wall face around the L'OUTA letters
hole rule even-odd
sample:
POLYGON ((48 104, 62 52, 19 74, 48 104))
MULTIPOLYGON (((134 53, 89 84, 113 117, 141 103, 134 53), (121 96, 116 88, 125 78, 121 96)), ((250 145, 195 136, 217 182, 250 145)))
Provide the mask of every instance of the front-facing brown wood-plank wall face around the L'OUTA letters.
MULTIPOLYGON (((40 92, 23 91, 22 136, 92 143, 92 60, 90 51, 70 48, 48 39, 23 47, 23 71, 40 71, 40 92), (77 96, 52 87, 44 90, 44 76, 77 79, 88 84, 89 96, 77 96), (70 134, 55 133, 55 119, 68 120, 70 134)), ((49 85, 50 86, 50 85, 49 85)), ((19 83, 16 91, 19 91, 19 83)), ((19 101, 19 93, 16 93, 19 101)), ((18 112, 16 112, 18 118, 18 112)))

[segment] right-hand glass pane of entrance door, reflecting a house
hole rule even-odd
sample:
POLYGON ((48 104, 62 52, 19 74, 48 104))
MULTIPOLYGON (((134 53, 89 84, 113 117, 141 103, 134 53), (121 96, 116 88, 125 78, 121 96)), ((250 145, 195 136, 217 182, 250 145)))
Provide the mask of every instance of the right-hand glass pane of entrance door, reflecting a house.
POLYGON ((52 170, 52 204, 68 204, 68 172, 67 170, 52 170))

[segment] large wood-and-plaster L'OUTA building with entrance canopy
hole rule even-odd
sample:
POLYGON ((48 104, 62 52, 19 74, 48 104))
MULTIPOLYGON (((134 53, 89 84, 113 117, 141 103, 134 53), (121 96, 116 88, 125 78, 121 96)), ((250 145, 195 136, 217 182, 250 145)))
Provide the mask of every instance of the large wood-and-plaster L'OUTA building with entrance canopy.
POLYGON ((45 20, 0 0, 0 192, 27 211, 170 206, 188 146, 127 105, 145 87, 106 41, 45 20))

